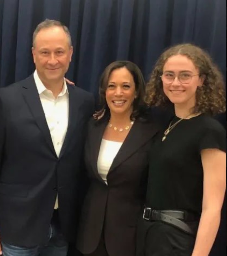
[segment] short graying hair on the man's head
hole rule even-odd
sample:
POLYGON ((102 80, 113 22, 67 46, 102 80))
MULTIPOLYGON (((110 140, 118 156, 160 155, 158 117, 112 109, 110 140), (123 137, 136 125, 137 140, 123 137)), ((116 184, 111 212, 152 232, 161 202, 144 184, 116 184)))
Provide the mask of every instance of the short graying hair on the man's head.
POLYGON ((62 27, 62 29, 65 31, 65 33, 68 37, 69 46, 72 46, 72 40, 71 40, 69 29, 65 25, 63 25, 60 21, 45 19, 44 21, 42 21, 41 23, 39 23, 37 25, 37 27, 33 33, 33 37, 32 37, 32 46, 33 47, 35 47, 35 40, 36 40, 36 36, 39 33, 39 31, 42 30, 43 28, 49 28, 49 27, 62 27))

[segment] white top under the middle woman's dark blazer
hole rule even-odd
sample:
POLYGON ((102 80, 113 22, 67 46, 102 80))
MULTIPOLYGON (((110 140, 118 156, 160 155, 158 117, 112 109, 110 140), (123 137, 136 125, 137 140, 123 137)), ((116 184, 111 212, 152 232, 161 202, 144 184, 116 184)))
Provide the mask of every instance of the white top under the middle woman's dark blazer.
POLYGON ((123 142, 102 139, 98 154, 98 174, 107 184, 106 176, 123 142))

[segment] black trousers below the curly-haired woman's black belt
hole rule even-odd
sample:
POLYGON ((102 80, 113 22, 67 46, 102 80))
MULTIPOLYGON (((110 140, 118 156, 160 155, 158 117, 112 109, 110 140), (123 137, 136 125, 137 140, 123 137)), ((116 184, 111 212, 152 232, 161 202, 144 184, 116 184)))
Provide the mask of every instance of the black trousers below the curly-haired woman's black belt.
POLYGON ((195 237, 161 221, 139 220, 137 256, 191 256, 195 237))

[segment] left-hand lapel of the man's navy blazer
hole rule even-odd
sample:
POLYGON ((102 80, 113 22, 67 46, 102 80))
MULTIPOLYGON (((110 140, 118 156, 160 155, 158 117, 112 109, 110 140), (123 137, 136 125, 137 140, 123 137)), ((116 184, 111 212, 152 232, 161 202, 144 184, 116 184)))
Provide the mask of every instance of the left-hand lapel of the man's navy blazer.
POLYGON ((39 129, 43 132, 44 138, 48 146, 50 147, 52 152, 56 155, 54 146, 52 143, 51 135, 50 135, 50 130, 46 122, 45 114, 42 108, 42 104, 40 101, 38 90, 36 88, 33 74, 30 75, 30 77, 28 77, 25 80, 25 83, 22 86, 22 89, 23 89, 22 93, 23 93, 25 102, 27 103, 39 129))

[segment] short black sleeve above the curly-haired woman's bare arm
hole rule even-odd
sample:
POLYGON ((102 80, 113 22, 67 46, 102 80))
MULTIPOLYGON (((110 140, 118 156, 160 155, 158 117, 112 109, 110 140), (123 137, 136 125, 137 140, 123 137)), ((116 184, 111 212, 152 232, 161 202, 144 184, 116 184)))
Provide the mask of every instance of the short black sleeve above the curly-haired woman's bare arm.
POLYGON ((203 132, 199 141, 199 151, 202 149, 220 149, 226 152, 226 131, 221 125, 203 132))

